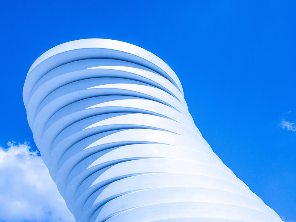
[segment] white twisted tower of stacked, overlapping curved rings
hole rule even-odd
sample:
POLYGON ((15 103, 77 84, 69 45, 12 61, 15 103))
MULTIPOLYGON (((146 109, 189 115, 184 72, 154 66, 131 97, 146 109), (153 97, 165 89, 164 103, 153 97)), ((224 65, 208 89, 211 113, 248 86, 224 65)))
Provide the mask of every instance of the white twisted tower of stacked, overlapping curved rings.
POLYGON ((173 70, 140 47, 56 46, 31 66, 23 99, 76 221, 281 221, 202 138, 173 70))

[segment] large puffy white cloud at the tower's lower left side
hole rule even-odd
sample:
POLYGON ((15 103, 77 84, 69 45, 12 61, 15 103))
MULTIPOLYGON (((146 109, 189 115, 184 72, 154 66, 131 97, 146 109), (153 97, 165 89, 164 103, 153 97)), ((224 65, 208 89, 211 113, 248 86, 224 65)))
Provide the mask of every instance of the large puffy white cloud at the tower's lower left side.
POLYGON ((0 221, 74 222, 37 152, 28 144, 0 147, 0 221))

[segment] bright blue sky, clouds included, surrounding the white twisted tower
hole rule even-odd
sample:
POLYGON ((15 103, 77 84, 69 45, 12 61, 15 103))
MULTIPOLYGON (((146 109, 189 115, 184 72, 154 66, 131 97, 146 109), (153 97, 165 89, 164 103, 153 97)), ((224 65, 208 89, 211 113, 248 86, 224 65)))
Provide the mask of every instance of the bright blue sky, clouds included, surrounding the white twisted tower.
POLYGON ((46 168, 22 87, 37 57, 82 38, 126 41, 168 63, 214 152, 284 221, 296 221, 295 11, 295 1, 2 1, 0 221, 73 220, 62 200, 51 202, 54 188, 36 189, 49 179, 38 176, 46 168), (39 209, 42 201, 50 204, 39 209))

